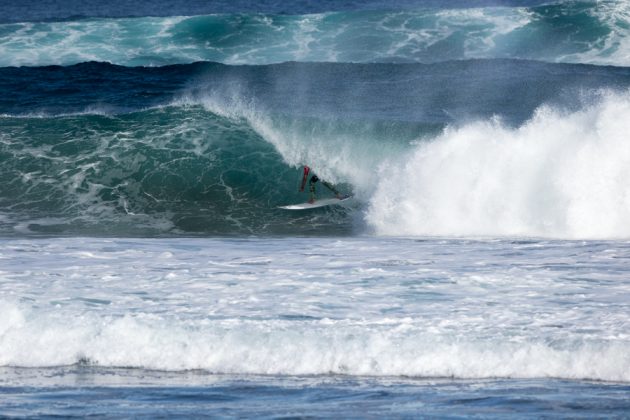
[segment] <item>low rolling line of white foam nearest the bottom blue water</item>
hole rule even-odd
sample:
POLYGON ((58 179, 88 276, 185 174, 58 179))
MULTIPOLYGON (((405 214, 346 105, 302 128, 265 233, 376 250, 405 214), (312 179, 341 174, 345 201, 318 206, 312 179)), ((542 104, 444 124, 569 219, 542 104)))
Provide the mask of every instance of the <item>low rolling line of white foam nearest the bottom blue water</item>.
POLYGON ((413 321, 196 321, 155 314, 72 318, 6 302, 0 365, 89 363, 212 373, 540 378, 630 381, 628 343, 480 340, 415 328, 413 321))

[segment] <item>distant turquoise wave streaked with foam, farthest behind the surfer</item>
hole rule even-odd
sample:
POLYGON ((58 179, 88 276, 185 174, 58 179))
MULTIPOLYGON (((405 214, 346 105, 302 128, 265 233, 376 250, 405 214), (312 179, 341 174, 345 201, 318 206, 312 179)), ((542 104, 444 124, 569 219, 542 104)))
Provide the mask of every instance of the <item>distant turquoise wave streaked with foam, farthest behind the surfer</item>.
POLYGON ((125 66, 195 61, 426 63, 471 58, 630 62, 630 6, 625 2, 359 9, 6 23, 0 25, 0 66, 85 61, 125 66))

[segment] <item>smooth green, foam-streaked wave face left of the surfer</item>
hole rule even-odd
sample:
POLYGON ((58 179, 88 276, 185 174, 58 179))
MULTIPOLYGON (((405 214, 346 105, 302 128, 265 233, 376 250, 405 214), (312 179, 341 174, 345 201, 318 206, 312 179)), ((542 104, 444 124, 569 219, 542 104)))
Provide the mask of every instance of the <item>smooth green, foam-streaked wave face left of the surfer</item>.
POLYGON ((271 145, 199 108, 9 118, 3 126, 11 182, 2 204, 18 231, 25 219, 25 232, 40 233, 247 233, 295 196, 293 174, 271 145))

